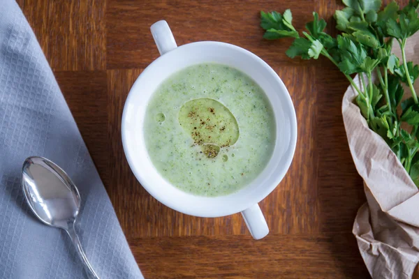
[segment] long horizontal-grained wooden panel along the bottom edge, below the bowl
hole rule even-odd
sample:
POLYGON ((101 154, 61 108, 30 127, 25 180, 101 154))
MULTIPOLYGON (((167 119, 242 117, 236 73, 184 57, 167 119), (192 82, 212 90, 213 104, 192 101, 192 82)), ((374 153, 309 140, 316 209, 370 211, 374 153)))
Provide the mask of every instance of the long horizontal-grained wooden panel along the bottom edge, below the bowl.
POLYGON ((145 278, 369 278, 351 234, 128 238, 145 278))

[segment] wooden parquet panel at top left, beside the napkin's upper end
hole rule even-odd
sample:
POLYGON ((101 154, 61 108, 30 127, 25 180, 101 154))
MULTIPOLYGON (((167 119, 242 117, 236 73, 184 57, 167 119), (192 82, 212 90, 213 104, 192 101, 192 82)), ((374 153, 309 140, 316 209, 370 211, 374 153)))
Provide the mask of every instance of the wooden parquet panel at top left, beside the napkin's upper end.
POLYGON ((52 70, 105 70, 105 3, 19 1, 52 70))

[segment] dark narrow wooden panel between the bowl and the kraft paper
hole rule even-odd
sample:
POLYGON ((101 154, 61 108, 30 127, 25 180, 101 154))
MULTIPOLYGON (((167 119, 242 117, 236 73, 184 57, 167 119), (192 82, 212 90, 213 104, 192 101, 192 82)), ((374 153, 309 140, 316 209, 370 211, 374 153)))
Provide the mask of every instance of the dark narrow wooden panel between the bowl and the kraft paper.
POLYGON ((366 202, 341 116, 341 102, 348 86, 339 70, 316 69, 318 197, 323 232, 351 232, 356 212, 366 202))

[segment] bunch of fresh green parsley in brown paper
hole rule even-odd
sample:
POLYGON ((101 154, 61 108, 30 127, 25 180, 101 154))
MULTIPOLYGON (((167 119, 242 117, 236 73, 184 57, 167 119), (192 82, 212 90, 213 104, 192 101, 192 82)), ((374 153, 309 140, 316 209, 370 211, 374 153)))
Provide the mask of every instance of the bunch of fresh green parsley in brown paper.
POLYGON ((419 103, 413 88, 419 66, 406 61, 406 40, 419 30, 419 0, 404 8, 392 1, 381 9, 381 0, 343 0, 346 8, 336 10, 336 38, 325 33, 326 22, 313 13, 302 36, 293 27, 291 10, 283 14, 260 12, 264 38, 295 38, 286 54, 294 58, 327 57, 349 80, 358 96, 355 101, 369 128, 383 137, 397 158, 419 186, 419 103), (402 61, 391 52, 398 43, 402 61), (362 86, 351 75, 360 74, 362 86), (377 82, 372 82, 373 74, 377 82), (366 80, 368 82, 366 82, 366 80), (403 84, 411 97, 402 101, 403 84), (403 123, 403 125, 402 125, 403 123))

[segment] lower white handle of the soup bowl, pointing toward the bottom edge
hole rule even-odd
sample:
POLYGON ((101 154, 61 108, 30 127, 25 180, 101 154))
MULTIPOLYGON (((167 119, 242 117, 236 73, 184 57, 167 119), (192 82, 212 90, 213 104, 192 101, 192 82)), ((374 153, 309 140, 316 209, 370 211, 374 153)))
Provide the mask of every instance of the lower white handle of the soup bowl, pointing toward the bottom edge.
POLYGON ((263 239, 267 236, 269 228, 258 204, 242 211, 242 216, 253 239, 263 239))

